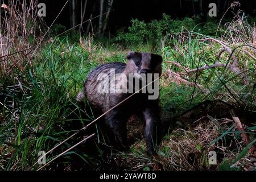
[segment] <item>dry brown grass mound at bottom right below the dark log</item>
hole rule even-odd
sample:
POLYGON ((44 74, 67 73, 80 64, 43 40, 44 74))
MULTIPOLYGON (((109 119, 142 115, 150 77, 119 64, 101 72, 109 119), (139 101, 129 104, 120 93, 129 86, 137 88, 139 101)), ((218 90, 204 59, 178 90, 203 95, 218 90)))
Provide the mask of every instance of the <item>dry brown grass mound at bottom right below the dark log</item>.
MULTIPOLYGON (((141 170, 149 167, 151 170, 229 170, 225 166, 241 153, 245 143, 237 138, 236 127, 226 134, 225 137, 211 144, 222 133, 230 129, 233 124, 228 118, 214 119, 209 115, 196 121, 195 127, 188 130, 177 129, 172 131, 162 140, 159 146, 158 156, 154 159, 143 155, 145 150, 144 140, 131 146, 132 154, 115 155, 114 160, 119 169, 141 170), (210 145, 211 144, 211 145, 210 145), (209 165, 209 151, 217 152, 217 164, 209 165)), ((233 167, 241 167, 243 170, 255 168, 255 158, 250 152, 241 158, 233 167)), ((231 169, 231 168, 230 168, 231 169)))

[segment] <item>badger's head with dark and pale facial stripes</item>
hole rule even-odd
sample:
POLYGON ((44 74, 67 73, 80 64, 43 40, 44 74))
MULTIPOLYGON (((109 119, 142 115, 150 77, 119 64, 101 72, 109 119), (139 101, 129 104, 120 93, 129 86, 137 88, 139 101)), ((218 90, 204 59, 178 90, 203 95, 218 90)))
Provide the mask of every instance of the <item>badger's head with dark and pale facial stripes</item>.
POLYGON ((126 72, 136 75, 162 74, 162 56, 147 52, 129 52, 127 55, 126 72))

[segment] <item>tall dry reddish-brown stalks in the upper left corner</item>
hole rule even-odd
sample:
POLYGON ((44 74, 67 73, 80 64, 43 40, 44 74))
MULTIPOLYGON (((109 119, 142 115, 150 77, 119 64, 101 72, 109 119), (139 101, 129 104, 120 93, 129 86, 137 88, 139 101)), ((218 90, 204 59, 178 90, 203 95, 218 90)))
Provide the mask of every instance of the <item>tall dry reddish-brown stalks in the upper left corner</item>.
POLYGON ((43 40, 43 20, 38 16, 38 0, 9 0, 1 6, 0 76, 14 76, 32 65, 35 48, 43 40))

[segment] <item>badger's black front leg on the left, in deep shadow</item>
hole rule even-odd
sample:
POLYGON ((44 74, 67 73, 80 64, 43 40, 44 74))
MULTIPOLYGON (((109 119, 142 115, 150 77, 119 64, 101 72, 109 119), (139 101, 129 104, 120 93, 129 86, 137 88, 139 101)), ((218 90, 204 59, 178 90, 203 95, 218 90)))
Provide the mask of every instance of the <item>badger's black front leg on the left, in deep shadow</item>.
POLYGON ((127 150, 126 120, 121 119, 121 116, 116 111, 107 114, 105 119, 114 135, 115 147, 118 150, 127 150))

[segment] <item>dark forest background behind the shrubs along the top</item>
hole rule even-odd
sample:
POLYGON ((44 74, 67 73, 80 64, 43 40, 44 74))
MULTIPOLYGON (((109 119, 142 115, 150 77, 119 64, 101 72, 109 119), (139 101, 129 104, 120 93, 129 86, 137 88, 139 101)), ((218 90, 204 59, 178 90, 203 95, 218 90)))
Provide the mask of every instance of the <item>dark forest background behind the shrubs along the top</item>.
MULTIPOLYGON (((49 1, 49 0, 40 0, 39 2, 46 3, 47 14, 44 18, 48 25, 50 25, 56 16, 59 14, 60 10, 66 3, 66 1, 49 1)), ((59 15, 59 18, 56 19, 55 23, 62 24, 67 28, 71 28, 73 24, 79 24, 81 21, 82 13, 85 15, 83 20, 88 20, 92 17, 100 15, 100 4, 102 0, 70 0, 68 6, 65 6, 63 13, 59 15), (75 3, 75 22, 72 22, 72 3, 75 3), (82 11, 82 13, 81 13, 82 11)), ((108 11, 108 3, 112 2, 110 0, 104 0, 103 13, 108 11)), ((144 20, 149 22, 153 19, 162 19, 163 14, 170 15, 171 18, 184 18, 185 16, 200 16, 202 18, 201 22, 205 22, 208 17, 208 7, 209 3, 216 3, 217 5, 217 17, 215 19, 220 19, 228 9, 231 3, 234 1, 230 0, 124 0, 118 1, 113 0, 112 7, 110 9, 108 25, 106 32, 115 34, 119 28, 127 27, 131 25, 131 19, 144 20)), ((240 0, 237 1, 241 3, 240 7, 235 7, 233 12, 237 12, 238 9, 241 9, 246 12, 246 15, 255 16, 256 15, 256 1, 250 0, 240 0)), ((228 11, 225 18, 233 18, 234 13, 228 11)), ((97 27, 98 18, 92 20, 93 26, 97 27)), ((83 30, 86 32, 86 27, 88 23, 82 24, 83 30)), ((91 31, 91 29, 90 29, 91 31)))

